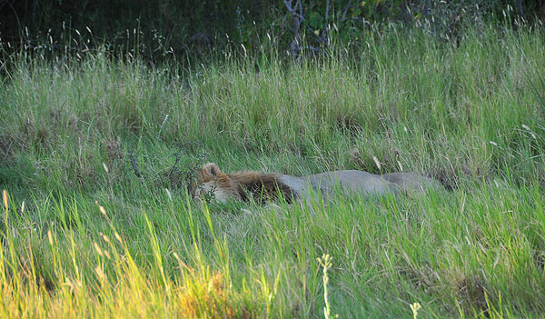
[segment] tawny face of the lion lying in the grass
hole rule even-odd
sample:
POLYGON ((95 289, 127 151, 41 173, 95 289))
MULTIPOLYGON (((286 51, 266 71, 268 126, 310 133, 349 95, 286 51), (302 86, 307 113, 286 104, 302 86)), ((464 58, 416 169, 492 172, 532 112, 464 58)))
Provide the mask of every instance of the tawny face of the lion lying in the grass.
POLYGON ((197 200, 215 200, 226 203, 229 198, 242 200, 237 192, 233 180, 222 172, 217 164, 208 163, 197 172, 197 184, 193 191, 193 198, 197 200))

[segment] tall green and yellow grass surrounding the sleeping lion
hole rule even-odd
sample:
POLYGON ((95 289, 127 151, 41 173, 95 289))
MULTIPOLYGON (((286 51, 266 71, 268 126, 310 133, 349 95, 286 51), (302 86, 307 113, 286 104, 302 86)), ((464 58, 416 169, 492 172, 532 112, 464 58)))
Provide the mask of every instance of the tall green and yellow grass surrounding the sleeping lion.
POLYGON ((459 47, 366 36, 358 60, 15 56, 0 86, 0 316, 542 314, 542 31, 459 47), (205 161, 417 171, 450 191, 200 205, 185 185, 205 161))

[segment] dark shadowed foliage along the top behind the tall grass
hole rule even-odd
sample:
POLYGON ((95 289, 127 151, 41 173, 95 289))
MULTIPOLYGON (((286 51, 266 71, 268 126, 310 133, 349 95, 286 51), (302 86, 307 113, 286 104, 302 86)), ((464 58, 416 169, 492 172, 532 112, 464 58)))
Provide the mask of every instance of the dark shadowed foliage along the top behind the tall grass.
POLYGON ((83 50, 107 44, 156 57, 225 45, 255 48, 267 34, 277 38, 280 49, 293 50, 304 33, 310 35, 306 47, 316 51, 329 43, 332 28, 345 41, 388 21, 426 21, 433 34, 452 39, 461 25, 477 19, 504 22, 508 5, 511 22, 545 14, 541 0, 0 0, 0 45, 83 50), (290 11, 296 2, 302 16, 290 11))

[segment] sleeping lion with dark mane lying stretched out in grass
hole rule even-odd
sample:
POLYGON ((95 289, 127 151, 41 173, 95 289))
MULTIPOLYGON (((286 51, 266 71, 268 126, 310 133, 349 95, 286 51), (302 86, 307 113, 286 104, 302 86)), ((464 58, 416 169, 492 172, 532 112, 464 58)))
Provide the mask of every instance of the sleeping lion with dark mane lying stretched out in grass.
POLYGON ((337 194, 385 194, 422 193, 431 188, 442 188, 439 181, 416 173, 371 174, 358 170, 342 170, 292 176, 278 173, 240 171, 225 174, 214 163, 204 164, 197 172, 193 184, 195 199, 213 198, 220 203, 232 199, 247 202, 273 201, 282 196, 288 203, 310 199, 320 194, 326 199, 337 194))

